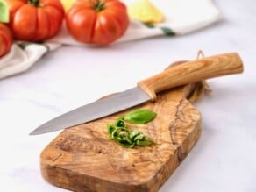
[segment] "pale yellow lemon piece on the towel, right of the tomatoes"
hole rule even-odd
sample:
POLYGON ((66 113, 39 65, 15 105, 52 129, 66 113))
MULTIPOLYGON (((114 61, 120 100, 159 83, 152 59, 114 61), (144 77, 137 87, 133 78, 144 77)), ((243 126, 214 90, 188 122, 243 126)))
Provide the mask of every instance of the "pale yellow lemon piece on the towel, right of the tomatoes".
POLYGON ((147 24, 160 23, 165 17, 150 0, 137 0, 135 3, 130 4, 127 10, 130 18, 147 24))

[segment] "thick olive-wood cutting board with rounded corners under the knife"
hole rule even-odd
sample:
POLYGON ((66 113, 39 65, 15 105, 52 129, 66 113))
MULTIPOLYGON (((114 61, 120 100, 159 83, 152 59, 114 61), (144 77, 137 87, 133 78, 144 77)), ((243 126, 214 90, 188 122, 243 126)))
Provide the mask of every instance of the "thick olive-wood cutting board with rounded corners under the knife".
POLYGON ((196 82, 171 89, 154 103, 60 132, 40 155, 42 176, 55 186, 79 192, 158 191, 199 139, 201 115, 191 103, 203 95, 205 85, 196 82), (145 132, 155 144, 131 149, 110 140, 106 124, 139 108, 153 110, 157 117, 129 127, 145 132))

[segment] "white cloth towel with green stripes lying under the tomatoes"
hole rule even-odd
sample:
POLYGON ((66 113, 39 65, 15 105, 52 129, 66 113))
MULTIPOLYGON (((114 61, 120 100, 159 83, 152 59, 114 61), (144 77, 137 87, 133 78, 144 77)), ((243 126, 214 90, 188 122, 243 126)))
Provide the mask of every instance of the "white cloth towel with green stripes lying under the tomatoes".
MULTIPOLYGON (((123 0, 129 6, 135 0, 123 0)), ((132 20, 124 36, 113 44, 132 40, 153 38, 157 36, 171 37, 184 35, 201 30, 219 21, 220 11, 211 0, 151 0, 151 2, 165 15, 160 24, 145 25, 132 20)), ((0 59, 0 79, 17 75, 31 68, 44 54, 61 46, 88 46, 77 42, 68 33, 65 24, 61 32, 42 44, 17 41, 11 51, 0 59)))

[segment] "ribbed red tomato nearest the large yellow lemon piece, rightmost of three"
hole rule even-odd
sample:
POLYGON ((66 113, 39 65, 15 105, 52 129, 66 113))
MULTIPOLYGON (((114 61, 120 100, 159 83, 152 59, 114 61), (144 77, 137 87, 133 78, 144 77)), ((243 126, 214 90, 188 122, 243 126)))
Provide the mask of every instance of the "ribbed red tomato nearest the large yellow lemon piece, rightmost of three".
POLYGON ((118 0, 77 0, 66 15, 68 32, 78 41, 106 45, 129 25, 126 6, 118 0))

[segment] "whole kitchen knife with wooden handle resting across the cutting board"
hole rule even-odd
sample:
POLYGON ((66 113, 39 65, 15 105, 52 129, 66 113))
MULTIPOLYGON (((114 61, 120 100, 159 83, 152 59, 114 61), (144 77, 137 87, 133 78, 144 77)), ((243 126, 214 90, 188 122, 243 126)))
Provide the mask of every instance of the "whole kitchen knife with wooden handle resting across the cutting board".
POLYGON ((239 74, 243 70, 243 61, 238 53, 217 54, 199 60, 188 61, 142 80, 132 89, 103 97, 94 103, 86 104, 55 117, 40 125, 30 135, 38 135, 78 124, 85 124, 141 103, 155 101, 157 100, 157 94, 161 91, 212 77, 239 74))

